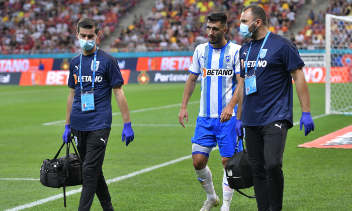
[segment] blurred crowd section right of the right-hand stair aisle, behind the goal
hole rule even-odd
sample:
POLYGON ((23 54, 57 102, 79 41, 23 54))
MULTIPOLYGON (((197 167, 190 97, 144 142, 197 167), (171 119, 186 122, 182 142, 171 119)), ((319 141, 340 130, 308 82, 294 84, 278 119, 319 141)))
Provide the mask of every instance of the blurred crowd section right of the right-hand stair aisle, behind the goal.
MULTIPOLYGON (((314 6, 314 5, 313 5, 314 6)), ((314 13, 310 10, 307 25, 296 36, 291 34, 291 40, 298 48, 315 50, 325 48, 325 14, 336 16, 352 16, 351 0, 330 0, 326 10, 314 13)), ((352 48, 352 27, 341 23, 331 25, 331 44, 333 48, 352 48), (346 31, 342 33, 342 31, 346 31)))

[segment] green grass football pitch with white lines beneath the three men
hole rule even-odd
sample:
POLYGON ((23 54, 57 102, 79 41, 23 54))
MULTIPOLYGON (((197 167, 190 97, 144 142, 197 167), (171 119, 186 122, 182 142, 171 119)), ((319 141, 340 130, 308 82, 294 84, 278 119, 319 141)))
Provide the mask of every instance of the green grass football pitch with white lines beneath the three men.
MULTIPOLYGON (((191 137, 199 111, 200 83, 188 105, 189 123, 178 121, 184 83, 123 86, 135 133, 121 141, 122 117, 113 98, 113 125, 103 164, 115 210, 199 210, 206 194, 191 159, 191 137)), ((324 84, 309 84, 315 130, 299 130, 301 108, 294 87, 294 123, 284 153, 283 210, 352 210, 351 149, 299 148, 352 124, 352 116, 325 116, 324 84)), ((67 86, 0 86, 0 210, 77 210, 81 186, 45 187, 44 159, 62 144, 67 86)), ((64 155, 62 150, 60 156, 64 155)), ((210 155, 215 191, 222 204, 219 151, 210 155)), ((253 188, 245 189, 247 194, 253 188)), ((91 210, 102 210, 95 197, 91 210)), ((234 192, 230 210, 256 210, 255 199, 234 192)))

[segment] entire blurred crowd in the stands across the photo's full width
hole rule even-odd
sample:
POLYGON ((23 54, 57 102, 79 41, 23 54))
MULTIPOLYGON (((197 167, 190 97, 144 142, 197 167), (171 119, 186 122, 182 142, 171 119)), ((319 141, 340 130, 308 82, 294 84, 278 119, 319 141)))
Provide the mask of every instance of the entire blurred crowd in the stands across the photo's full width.
MULTIPOLYGON (((119 19, 138 2, 0 1, 0 52, 80 52, 74 32, 76 23, 83 17, 93 17, 99 22, 101 36, 98 45, 111 33, 117 34, 110 45, 111 52, 192 51, 198 44, 208 41, 205 18, 217 11, 228 15, 226 40, 243 45, 249 40, 239 33, 239 19, 242 9, 250 4, 259 4, 266 10, 270 31, 290 37, 298 48, 318 49, 325 44, 325 14, 352 15, 352 0, 329 0, 326 11, 316 14, 311 10, 307 25, 294 35, 290 34, 290 28, 296 21, 297 11, 306 4, 305 0, 156 0, 148 16, 134 16, 132 25, 114 32, 119 19)), ((341 29, 334 30, 338 34, 341 29)), ((335 40, 339 44, 347 41, 352 43, 350 36, 335 40)))

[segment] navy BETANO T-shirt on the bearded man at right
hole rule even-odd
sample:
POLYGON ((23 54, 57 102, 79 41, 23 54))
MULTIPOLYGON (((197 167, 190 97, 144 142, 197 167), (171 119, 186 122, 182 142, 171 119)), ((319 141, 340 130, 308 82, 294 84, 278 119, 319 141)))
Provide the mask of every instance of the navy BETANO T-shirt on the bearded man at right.
MULTIPOLYGON (((253 40, 248 55, 248 75, 254 72, 254 65, 265 38, 253 40)), ((250 43, 240 49, 240 60, 246 61, 250 43)), ((288 120, 293 126, 292 77, 291 72, 304 66, 296 45, 283 36, 270 33, 260 54, 256 70, 257 91, 246 95, 243 90, 242 124, 263 126, 279 120, 288 120)), ((245 68, 241 66, 240 76, 245 68)))

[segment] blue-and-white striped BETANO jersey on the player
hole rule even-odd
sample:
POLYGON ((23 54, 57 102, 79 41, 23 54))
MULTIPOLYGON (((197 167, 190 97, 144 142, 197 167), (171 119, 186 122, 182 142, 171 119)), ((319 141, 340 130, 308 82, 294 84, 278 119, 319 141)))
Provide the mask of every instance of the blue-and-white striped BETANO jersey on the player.
MULTIPOLYGON (((240 45, 228 42, 213 48, 209 42, 197 46, 189 71, 201 75, 200 117, 220 118, 232 98, 240 71, 240 45)), ((237 105, 232 116, 236 116, 237 105)))

